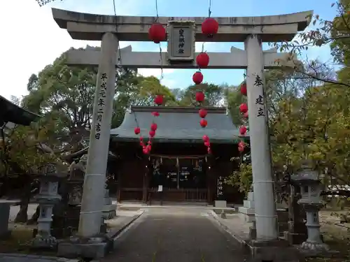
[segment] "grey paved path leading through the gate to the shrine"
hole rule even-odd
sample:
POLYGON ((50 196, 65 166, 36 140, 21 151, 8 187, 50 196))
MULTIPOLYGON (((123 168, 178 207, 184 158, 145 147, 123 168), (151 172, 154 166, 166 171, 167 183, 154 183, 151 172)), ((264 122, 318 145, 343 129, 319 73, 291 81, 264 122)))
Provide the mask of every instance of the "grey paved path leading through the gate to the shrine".
POLYGON ((241 247, 207 210, 148 209, 118 238, 104 262, 245 261, 241 247))

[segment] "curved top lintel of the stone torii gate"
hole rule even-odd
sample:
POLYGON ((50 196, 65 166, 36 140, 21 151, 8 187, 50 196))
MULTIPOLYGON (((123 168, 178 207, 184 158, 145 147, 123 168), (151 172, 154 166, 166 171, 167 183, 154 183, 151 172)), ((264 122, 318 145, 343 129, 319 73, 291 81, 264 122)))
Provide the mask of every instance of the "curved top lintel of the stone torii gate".
MULTIPOLYGON (((208 39, 201 31, 206 17, 159 17, 158 22, 191 20, 196 23, 195 41, 243 42, 249 34, 260 34, 263 42, 291 41, 297 31, 309 24, 313 11, 286 15, 258 17, 214 17, 219 31, 208 39)), ((156 17, 114 16, 78 13, 52 8, 52 15, 60 28, 66 29, 73 39, 100 41, 102 34, 115 32, 120 41, 149 41, 148 29, 156 17)))

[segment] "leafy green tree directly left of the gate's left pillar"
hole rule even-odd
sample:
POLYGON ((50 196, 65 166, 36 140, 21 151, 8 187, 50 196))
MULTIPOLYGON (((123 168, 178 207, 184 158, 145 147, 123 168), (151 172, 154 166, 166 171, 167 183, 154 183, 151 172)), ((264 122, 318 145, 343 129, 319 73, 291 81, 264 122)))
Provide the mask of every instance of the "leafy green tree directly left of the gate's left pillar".
POLYGON ((85 146, 95 83, 96 73, 92 68, 67 66, 63 55, 45 66, 38 76, 29 78, 25 108, 57 124, 51 133, 58 142, 56 150, 74 152, 85 146))

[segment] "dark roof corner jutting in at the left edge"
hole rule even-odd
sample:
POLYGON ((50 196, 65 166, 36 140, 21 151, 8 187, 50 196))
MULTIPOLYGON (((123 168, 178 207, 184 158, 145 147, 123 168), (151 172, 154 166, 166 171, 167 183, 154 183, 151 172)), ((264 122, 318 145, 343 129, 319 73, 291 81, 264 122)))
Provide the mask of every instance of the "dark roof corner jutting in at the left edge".
POLYGON ((29 126, 31 122, 37 121, 39 117, 39 115, 29 112, 24 108, 20 108, 20 106, 0 96, 0 122, 11 122, 29 126))

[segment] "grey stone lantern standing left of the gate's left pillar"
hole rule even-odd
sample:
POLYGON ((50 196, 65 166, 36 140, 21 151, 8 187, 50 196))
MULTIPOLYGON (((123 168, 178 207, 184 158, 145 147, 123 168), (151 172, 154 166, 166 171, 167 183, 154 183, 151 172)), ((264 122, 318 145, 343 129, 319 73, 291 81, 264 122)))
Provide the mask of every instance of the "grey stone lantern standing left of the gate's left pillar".
POLYGON ((40 208, 38 217, 38 232, 32 241, 36 248, 55 248, 57 240, 51 235, 52 209, 61 196, 57 194, 61 175, 57 173, 55 164, 49 163, 40 170, 40 189, 35 196, 40 208))

